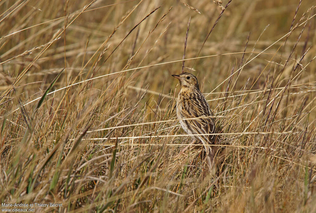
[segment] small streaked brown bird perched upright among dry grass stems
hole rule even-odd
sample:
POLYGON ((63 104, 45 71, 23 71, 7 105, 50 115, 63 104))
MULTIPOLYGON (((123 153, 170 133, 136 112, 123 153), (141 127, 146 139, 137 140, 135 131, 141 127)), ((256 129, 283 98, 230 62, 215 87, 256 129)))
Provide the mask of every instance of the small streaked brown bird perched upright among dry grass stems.
MULTIPOLYGON (((187 134, 215 133, 215 125, 210 105, 201 93, 197 78, 191 73, 172 75, 179 79, 181 90, 177 100, 177 116, 181 127, 187 134)), ((200 140, 205 147, 210 171, 214 169, 215 135, 194 135, 191 138, 200 140)))

